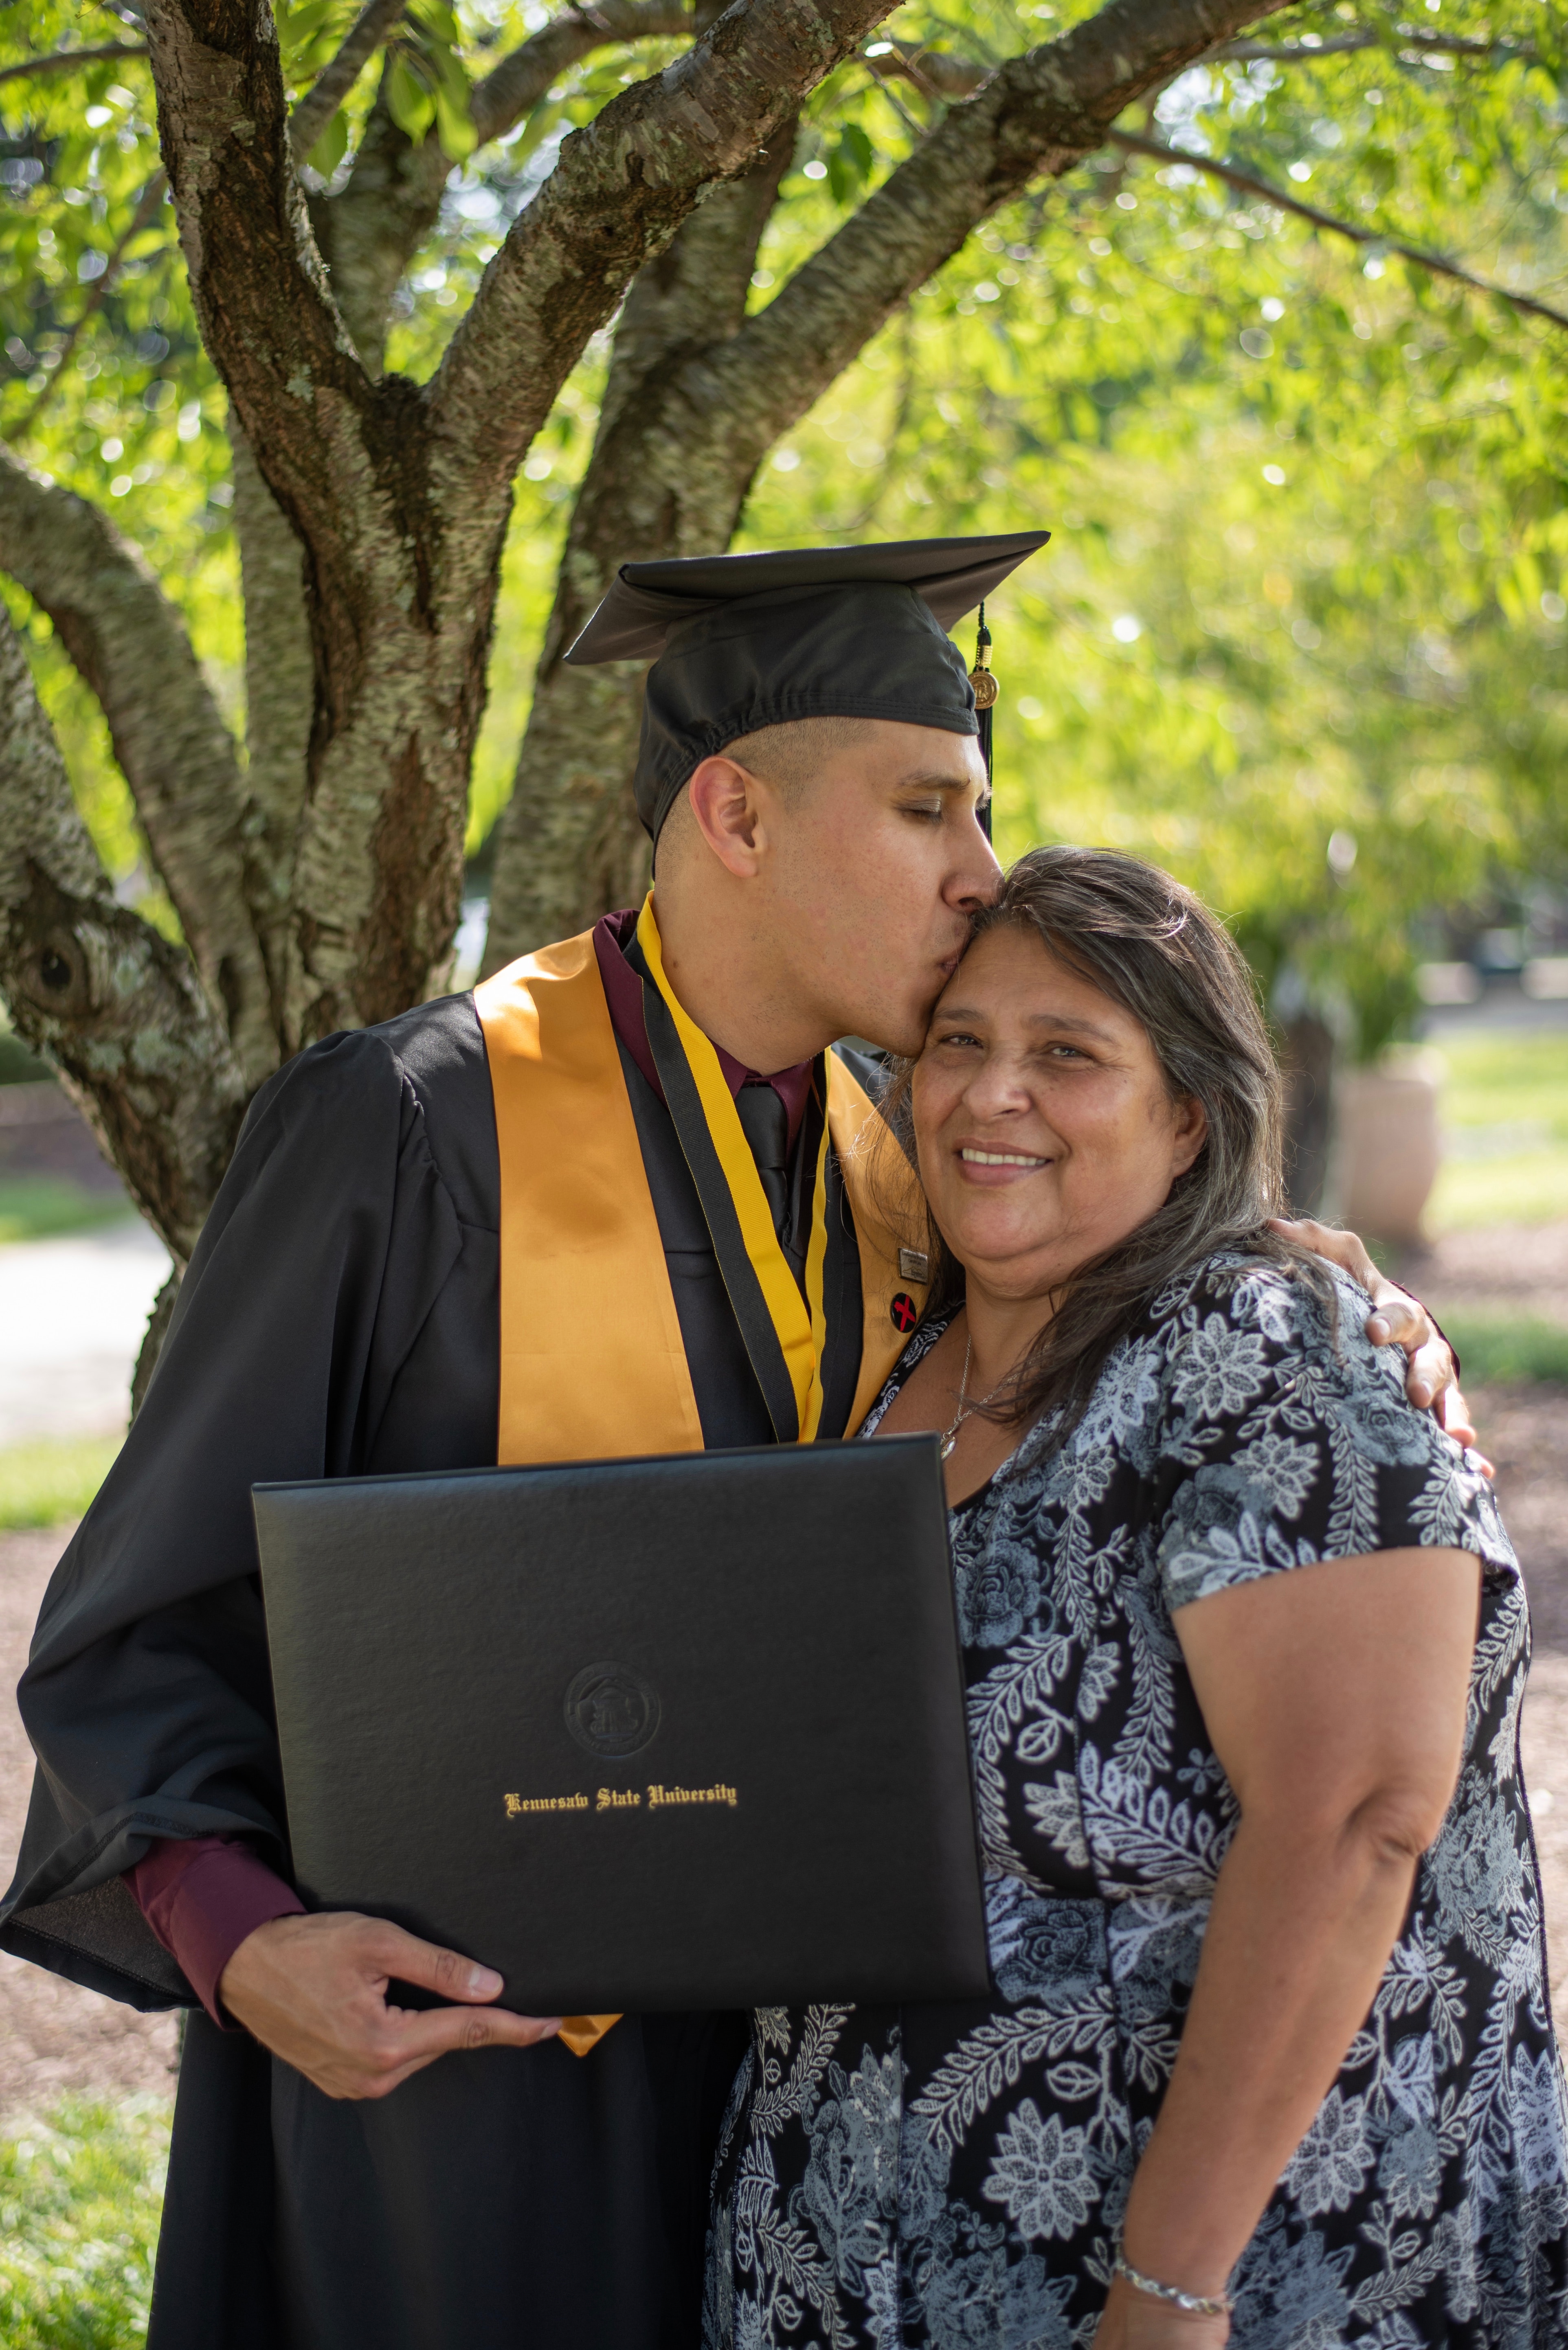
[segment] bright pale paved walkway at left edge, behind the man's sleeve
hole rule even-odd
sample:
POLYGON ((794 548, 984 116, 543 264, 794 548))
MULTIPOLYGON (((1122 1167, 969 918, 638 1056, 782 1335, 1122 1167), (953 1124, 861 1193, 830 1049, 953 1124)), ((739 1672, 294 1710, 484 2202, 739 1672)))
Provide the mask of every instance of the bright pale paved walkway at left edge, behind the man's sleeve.
POLYGON ((169 1253, 139 1215, 0 1248, 0 1450, 125 1426, 167 1271, 169 1253))

